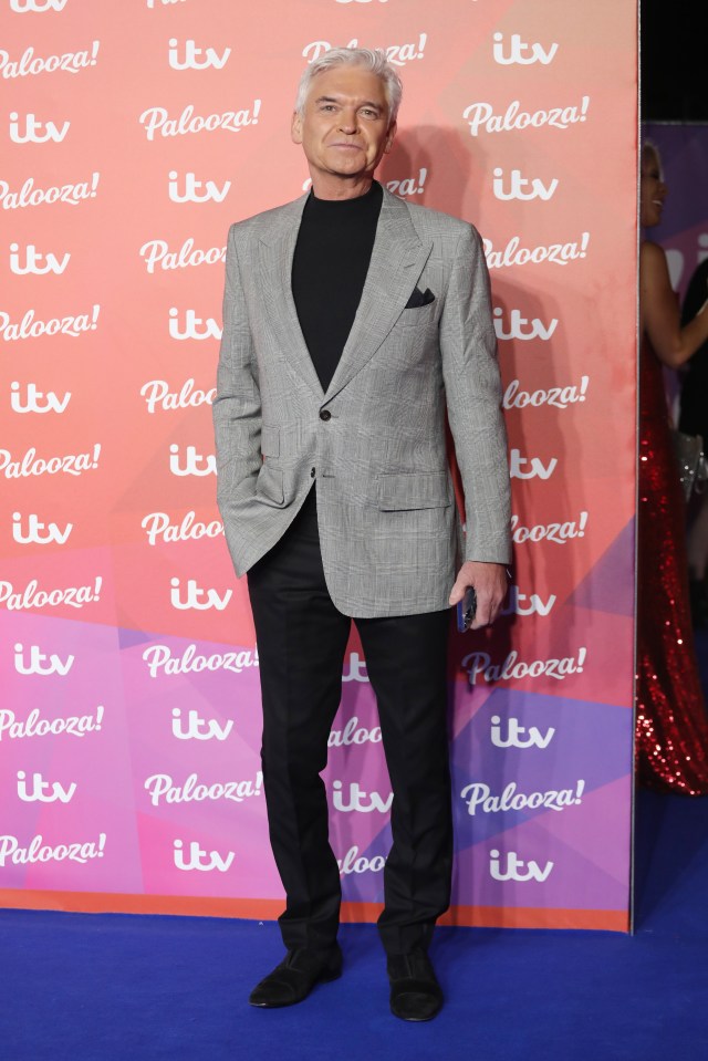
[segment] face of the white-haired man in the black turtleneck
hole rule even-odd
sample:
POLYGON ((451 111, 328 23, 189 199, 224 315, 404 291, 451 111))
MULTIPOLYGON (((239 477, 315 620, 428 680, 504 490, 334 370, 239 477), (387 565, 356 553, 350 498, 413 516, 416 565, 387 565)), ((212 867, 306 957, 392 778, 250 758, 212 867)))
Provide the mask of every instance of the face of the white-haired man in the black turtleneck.
POLYGON ((304 114, 292 119, 293 142, 302 144, 313 180, 316 175, 373 177, 395 132, 395 123, 388 124, 384 83, 363 66, 317 74, 304 114))

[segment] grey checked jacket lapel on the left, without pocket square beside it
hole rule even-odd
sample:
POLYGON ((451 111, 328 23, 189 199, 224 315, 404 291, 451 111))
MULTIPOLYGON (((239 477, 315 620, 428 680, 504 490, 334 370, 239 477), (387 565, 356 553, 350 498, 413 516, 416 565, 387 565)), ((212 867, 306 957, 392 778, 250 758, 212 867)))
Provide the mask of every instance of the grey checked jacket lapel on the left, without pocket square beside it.
POLYGON ((288 362, 322 401, 322 384, 312 364, 292 297, 292 260, 308 196, 288 202, 261 235, 260 275, 268 320, 288 362))

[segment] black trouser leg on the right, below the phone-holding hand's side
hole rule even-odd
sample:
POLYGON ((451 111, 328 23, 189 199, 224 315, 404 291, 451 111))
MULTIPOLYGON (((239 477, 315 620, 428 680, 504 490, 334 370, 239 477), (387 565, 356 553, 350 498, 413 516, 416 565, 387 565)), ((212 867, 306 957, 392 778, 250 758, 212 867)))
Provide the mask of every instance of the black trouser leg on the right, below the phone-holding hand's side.
POLYGON ((355 622, 394 792, 378 929, 388 954, 407 954, 427 948, 450 902, 449 612, 355 622))

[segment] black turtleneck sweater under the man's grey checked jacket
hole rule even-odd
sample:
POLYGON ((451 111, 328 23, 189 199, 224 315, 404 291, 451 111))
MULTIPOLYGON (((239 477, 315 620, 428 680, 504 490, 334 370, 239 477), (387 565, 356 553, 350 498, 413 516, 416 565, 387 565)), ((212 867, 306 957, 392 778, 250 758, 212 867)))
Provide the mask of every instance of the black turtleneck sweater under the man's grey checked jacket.
POLYGON ((384 198, 374 181, 356 199, 305 202, 292 262, 300 327, 324 391, 352 330, 384 198))

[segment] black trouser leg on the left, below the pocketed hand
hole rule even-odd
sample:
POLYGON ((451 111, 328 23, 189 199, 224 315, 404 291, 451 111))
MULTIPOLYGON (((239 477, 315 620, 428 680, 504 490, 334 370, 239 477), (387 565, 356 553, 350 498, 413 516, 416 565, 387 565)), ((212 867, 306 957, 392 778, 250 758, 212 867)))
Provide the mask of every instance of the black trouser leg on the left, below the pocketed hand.
POLYGON ((340 705, 351 620, 324 582, 314 497, 248 575, 263 701, 263 789, 287 895, 288 949, 329 947, 339 926, 340 871, 320 772, 340 705))

